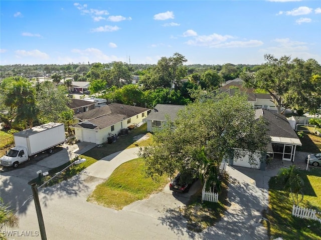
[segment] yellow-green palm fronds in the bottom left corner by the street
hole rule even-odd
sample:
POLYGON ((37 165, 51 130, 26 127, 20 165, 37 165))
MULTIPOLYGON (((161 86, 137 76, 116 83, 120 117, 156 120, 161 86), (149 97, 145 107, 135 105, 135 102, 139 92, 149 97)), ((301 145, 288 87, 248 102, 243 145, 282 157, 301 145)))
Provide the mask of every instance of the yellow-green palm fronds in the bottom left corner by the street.
POLYGON ((19 218, 15 213, 9 209, 2 198, 0 198, 0 239, 6 240, 7 236, 4 234, 3 228, 7 225, 10 227, 18 227, 19 218))

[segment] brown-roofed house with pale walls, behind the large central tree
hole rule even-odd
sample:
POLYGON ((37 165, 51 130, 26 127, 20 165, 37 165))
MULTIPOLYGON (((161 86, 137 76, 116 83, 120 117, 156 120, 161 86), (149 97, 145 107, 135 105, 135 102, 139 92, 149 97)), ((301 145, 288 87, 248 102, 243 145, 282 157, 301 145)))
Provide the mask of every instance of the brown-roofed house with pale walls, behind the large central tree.
POLYGON ((244 88, 243 81, 239 78, 227 81, 221 88, 220 93, 228 93, 230 96, 235 93, 246 93, 247 101, 253 106, 254 109, 263 108, 266 110, 277 111, 273 103, 273 99, 268 93, 254 93, 254 88, 244 88))

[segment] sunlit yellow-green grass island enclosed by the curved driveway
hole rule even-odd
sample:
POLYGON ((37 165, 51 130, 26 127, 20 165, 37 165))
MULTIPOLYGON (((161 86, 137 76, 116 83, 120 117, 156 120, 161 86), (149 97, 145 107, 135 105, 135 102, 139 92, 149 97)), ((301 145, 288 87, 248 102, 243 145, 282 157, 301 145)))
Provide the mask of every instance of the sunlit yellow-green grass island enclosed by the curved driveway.
POLYGON ((87 200, 119 210, 151 193, 161 191, 169 182, 165 176, 158 179, 147 177, 144 170, 143 158, 121 164, 105 182, 96 186, 87 200))

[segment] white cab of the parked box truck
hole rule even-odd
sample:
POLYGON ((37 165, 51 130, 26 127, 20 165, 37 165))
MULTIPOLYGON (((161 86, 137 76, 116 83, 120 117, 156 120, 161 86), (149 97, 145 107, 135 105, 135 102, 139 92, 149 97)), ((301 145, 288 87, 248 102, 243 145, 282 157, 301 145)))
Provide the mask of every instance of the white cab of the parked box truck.
POLYGON ((29 156, 25 147, 13 147, 0 159, 0 162, 2 166, 17 168, 20 163, 28 159, 29 156))

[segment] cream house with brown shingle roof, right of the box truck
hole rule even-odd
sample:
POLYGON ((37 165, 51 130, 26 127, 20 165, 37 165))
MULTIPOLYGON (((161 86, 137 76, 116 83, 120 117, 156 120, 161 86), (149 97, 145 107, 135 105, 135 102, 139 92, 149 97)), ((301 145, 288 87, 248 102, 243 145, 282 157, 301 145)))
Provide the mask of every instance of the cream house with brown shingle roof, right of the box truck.
POLYGON ((147 108, 112 103, 75 115, 76 140, 102 144, 124 128, 133 128, 147 117, 147 108))

